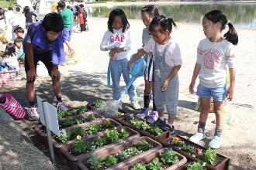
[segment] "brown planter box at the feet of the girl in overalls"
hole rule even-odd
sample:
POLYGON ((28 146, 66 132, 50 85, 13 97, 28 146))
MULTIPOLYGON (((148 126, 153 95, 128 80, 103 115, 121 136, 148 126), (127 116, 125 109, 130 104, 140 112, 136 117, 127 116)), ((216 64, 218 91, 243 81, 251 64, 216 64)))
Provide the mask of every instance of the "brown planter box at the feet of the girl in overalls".
MULTIPOLYGON (((123 124, 124 126, 127 126, 127 127, 129 127, 129 128, 134 129, 135 131, 140 132, 140 134, 142 134, 142 135, 144 135, 144 136, 148 136, 149 138, 154 139, 155 141, 161 142, 161 141, 164 141, 166 138, 169 138, 169 137, 171 136, 171 134, 170 134, 169 131, 166 131, 166 130, 164 130, 164 129, 162 129, 162 128, 161 128, 161 129, 162 129, 164 132, 163 132, 162 134, 160 134, 160 135, 157 135, 157 136, 155 136, 154 134, 150 134, 149 132, 144 131, 144 130, 142 130, 142 129, 135 128, 132 124, 130 124, 130 123, 128 123, 128 122, 125 121, 125 119, 126 119, 127 116, 128 116, 128 115, 125 115, 125 116, 123 116, 123 117, 119 117, 119 118, 118 118, 118 120, 119 120, 118 122, 119 122, 120 124, 123 124)), ((137 117, 136 117, 136 119, 138 119, 138 120, 140 120, 140 121, 143 121, 142 119, 137 118, 137 117)), ((150 123, 147 122, 147 124, 150 124, 150 123)))

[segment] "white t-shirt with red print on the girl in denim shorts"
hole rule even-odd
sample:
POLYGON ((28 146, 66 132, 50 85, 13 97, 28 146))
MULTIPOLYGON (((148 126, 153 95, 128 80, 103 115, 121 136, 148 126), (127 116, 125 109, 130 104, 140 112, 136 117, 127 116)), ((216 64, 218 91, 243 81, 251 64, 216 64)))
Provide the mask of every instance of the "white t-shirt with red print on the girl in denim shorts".
POLYGON ((223 87, 226 84, 226 65, 235 68, 234 45, 223 39, 210 42, 202 39, 197 47, 196 63, 201 65, 199 80, 208 88, 223 87))

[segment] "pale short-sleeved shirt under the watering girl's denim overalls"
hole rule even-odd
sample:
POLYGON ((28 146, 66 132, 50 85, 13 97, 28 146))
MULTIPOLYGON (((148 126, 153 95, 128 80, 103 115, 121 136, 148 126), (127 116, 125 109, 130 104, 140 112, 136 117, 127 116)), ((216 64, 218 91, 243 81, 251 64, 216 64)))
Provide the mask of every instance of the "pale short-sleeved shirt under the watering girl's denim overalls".
MULTIPOLYGON (((182 65, 181 49, 179 48, 178 43, 175 42, 174 39, 170 39, 168 43, 171 43, 171 46, 169 46, 169 49, 166 50, 165 62, 168 64, 168 66, 171 67, 182 65)), ((143 47, 143 49, 147 53, 152 52, 153 57, 155 57, 154 46, 157 45, 157 53, 163 55, 164 48, 168 45, 168 43, 164 45, 159 45, 154 41, 153 38, 151 38, 143 47)))

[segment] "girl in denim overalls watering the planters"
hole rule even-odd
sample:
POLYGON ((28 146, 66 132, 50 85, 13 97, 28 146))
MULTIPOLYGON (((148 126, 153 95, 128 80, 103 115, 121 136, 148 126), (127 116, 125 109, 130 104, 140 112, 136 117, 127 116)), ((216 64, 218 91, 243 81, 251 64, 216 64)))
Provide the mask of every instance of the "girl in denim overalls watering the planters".
POLYGON ((178 43, 171 38, 172 26, 176 26, 173 19, 166 18, 164 15, 154 17, 149 26, 153 39, 151 38, 128 63, 130 69, 136 59, 146 53, 153 53, 154 101, 159 114, 154 124, 168 129, 171 133, 175 131, 173 122, 178 106, 178 70, 182 66, 180 48, 178 43), (164 118, 165 108, 168 111, 168 122, 164 118))

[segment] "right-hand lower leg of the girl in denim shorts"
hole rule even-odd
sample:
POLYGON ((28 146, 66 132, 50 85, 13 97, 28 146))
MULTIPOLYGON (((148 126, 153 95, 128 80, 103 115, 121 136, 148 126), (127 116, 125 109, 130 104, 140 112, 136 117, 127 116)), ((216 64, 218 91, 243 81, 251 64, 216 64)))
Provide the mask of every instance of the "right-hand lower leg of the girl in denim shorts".
POLYGON ((214 101, 214 112, 216 115, 216 129, 214 136, 221 137, 224 125, 223 101, 214 101))

